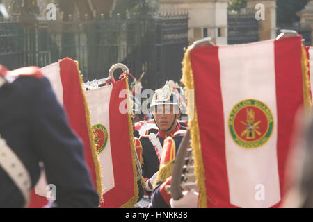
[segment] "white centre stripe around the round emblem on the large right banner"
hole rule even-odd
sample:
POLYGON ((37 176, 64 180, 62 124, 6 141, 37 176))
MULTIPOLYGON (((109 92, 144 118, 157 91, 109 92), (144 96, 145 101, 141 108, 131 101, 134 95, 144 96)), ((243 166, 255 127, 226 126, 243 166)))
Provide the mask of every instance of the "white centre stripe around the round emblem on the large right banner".
POLYGON ((237 207, 271 207, 280 201, 274 58, 273 41, 219 49, 230 203, 237 207), (273 114, 273 133, 258 148, 243 148, 230 135, 230 112, 246 99, 262 101, 273 114))

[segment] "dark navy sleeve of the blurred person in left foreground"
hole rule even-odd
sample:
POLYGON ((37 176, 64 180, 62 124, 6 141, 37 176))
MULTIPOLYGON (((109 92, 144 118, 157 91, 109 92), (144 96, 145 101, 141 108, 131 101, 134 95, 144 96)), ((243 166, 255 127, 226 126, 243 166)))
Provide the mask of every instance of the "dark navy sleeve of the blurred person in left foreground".
POLYGON ((45 165, 48 184, 56 185, 56 206, 97 207, 99 196, 83 157, 83 145, 72 133, 49 80, 40 81, 34 98, 31 136, 45 165))

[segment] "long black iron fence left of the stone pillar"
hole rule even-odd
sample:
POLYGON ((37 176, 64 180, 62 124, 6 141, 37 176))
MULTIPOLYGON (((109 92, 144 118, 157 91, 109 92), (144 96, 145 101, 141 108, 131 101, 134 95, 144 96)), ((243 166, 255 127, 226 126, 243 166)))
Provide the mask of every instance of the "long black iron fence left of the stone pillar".
POLYGON ((69 57, 79 61, 83 80, 108 76, 122 62, 143 86, 161 87, 182 77, 188 46, 188 15, 102 18, 95 21, 0 22, 0 63, 9 69, 44 67, 69 57))

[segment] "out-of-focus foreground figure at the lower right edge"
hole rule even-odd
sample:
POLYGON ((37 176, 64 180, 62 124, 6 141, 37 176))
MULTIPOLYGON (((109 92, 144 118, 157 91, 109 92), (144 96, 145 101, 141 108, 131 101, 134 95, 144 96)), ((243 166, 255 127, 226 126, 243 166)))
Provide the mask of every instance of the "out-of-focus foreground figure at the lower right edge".
POLYGON ((313 208, 313 118, 303 117, 300 111, 288 157, 284 208, 313 208))

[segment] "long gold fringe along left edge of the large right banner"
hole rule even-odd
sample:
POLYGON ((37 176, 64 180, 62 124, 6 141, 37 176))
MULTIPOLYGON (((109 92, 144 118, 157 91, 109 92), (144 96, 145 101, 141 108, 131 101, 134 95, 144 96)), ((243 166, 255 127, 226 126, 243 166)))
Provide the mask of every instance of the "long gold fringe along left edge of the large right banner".
MULTIPOLYGON (((184 83, 186 87, 186 99, 188 102, 188 117, 189 117, 189 128, 191 132, 191 147, 193 147, 193 156, 195 157, 195 177, 196 184, 199 189, 199 207, 207 208, 207 189, 205 187, 205 175, 204 175, 204 167, 203 167, 203 159, 202 159, 202 150, 201 150, 201 142, 200 142, 200 134, 199 134, 199 125, 198 125, 198 115, 197 108, 195 105, 195 98, 193 98, 193 103, 189 101, 189 91, 195 89, 194 81, 193 81, 193 70, 191 68, 190 61, 190 46, 185 52, 184 60, 182 62, 182 83, 184 83), (191 104, 194 106, 191 107, 191 104), (193 119, 190 119, 191 113, 193 112, 193 119)), ((195 94, 194 94, 195 95, 195 94)))

